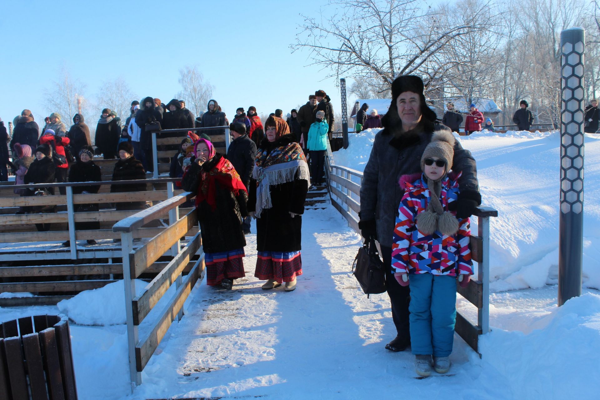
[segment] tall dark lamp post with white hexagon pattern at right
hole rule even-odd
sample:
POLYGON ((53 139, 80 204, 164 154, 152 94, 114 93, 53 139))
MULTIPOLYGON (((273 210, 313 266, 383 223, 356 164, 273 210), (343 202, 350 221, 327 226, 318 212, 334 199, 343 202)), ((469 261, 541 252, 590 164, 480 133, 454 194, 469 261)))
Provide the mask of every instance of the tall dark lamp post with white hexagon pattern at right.
POLYGON ((559 300, 581 295, 583 256, 583 72, 582 28, 560 33, 560 240, 559 300))

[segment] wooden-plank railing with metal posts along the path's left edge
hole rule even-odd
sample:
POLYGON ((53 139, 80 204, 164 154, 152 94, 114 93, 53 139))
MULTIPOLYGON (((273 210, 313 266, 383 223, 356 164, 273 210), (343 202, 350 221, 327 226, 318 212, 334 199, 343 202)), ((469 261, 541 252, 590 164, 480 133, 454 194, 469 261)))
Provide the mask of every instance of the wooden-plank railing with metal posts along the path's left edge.
POLYGON ((180 248, 179 243, 179 238, 193 230, 198 224, 195 209, 179 218, 179 205, 193 197, 194 194, 189 192, 179 194, 172 197, 172 199, 123 219, 113 226, 113 231, 121 234, 132 388, 142 383, 141 373, 169 329, 170 324, 175 319, 181 320, 185 299, 187 299, 198 279, 202 279, 205 270, 200 232, 197 232, 183 248, 180 248), (169 214, 169 227, 152 237, 142 247, 134 249, 133 239, 137 236, 137 232, 143 229, 142 226, 148 221, 167 213, 169 214), (174 255, 173 259, 146 285, 143 292, 136 296, 134 279, 142 273, 148 272, 152 264, 167 252, 174 255), (199 258, 193 260, 194 255, 199 255, 199 258), (193 263, 193 267, 184 279, 182 273, 190 263, 193 263), (148 333, 140 338, 140 324, 173 283, 176 286, 175 295, 164 309, 157 310, 157 312, 160 312, 157 321, 151 323, 149 327, 146 326, 145 332, 148 333))

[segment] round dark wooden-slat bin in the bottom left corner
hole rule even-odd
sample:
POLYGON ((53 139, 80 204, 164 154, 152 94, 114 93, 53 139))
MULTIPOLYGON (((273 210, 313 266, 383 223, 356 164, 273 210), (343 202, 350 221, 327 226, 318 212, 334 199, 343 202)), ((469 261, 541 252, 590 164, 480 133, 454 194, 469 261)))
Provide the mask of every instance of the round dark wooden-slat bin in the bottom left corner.
POLYGON ((35 315, 0 324, 0 399, 77 399, 67 320, 35 315))

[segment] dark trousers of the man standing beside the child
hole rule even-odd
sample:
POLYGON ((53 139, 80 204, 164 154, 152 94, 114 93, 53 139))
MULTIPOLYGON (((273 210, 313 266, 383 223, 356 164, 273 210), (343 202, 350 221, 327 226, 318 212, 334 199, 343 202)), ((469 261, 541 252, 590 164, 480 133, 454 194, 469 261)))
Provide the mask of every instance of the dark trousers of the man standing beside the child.
POLYGON ((385 287, 392 305, 392 319, 401 338, 410 339, 410 288, 398 283, 392 273, 392 248, 381 246, 383 267, 386 270, 385 287))

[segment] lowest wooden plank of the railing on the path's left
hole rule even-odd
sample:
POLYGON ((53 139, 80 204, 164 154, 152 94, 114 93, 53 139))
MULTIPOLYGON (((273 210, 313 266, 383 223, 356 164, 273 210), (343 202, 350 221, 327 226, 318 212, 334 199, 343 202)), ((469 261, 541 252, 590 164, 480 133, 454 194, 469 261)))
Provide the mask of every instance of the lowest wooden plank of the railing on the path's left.
POLYGON ((136 367, 137 371, 142 372, 152 354, 166 335, 171 323, 177 317, 179 310, 183 307, 185 300, 190 294, 191 289, 196 284, 203 269, 204 262, 200 261, 191 272, 185 277, 184 283, 176 291, 173 300, 166 307, 158 323, 152 329, 152 332, 145 339, 140 340, 141 345, 136 346, 136 367), (201 267, 202 266, 202 267, 201 267))

